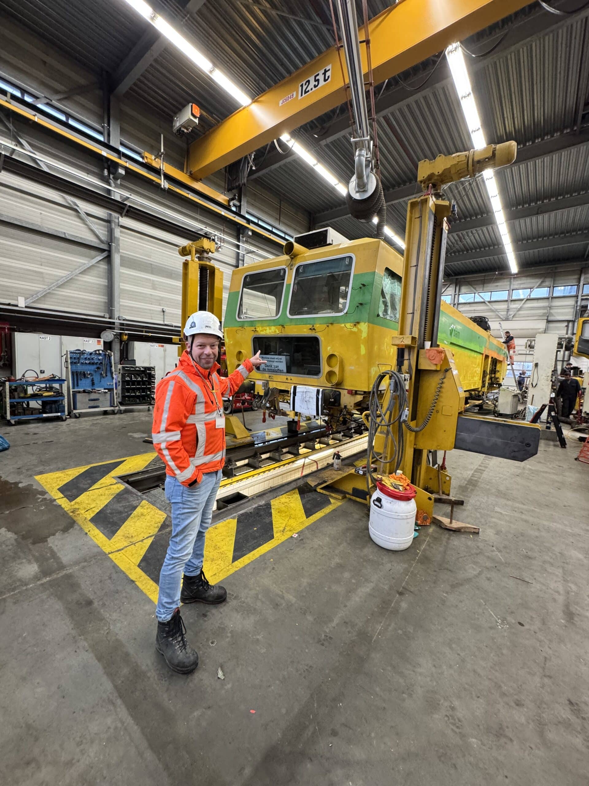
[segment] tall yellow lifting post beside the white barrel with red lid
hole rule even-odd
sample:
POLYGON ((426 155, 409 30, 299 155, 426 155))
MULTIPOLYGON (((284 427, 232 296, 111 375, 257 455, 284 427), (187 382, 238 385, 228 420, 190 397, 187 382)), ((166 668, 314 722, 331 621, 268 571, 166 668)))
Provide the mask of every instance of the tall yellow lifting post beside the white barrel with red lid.
MULTIPOLYGON (((437 341, 448 218, 452 212, 441 187, 462 178, 474 178, 487 169, 503 167, 514 160, 516 151, 515 142, 510 141, 421 161, 418 179, 426 193, 408 204, 399 332, 392 337, 392 343, 397 350, 397 372, 403 375, 407 391, 400 468, 417 492, 415 503, 419 520, 424 520, 424 514, 429 519, 433 516, 434 494, 450 493, 452 479, 430 466, 427 454, 455 447, 459 415, 465 401, 452 351, 439 346, 437 341)), ((389 411, 391 395, 390 385, 387 385, 382 402, 384 412, 389 411)), ((398 416, 397 404, 391 418, 398 416)), ((480 428, 486 425, 484 421, 480 428)), ((394 472, 392 463, 396 450, 390 429, 381 426, 374 439, 374 454, 382 457, 376 467, 377 473, 394 472)), ((371 452, 369 446, 369 457, 371 452)), ((330 487, 368 502, 371 489, 368 493, 361 490, 358 481, 357 474, 349 472, 332 481, 330 487)))

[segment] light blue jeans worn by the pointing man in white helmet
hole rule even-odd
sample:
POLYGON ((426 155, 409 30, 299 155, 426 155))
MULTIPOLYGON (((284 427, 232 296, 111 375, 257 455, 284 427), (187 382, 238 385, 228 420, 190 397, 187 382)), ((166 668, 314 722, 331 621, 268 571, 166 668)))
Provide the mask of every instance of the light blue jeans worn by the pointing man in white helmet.
POLYGON ((182 572, 197 576, 203 567, 204 538, 222 477, 220 469, 207 472, 200 483, 187 488, 166 475, 166 499, 172 505, 172 535, 159 573, 155 616, 160 623, 170 619, 180 605, 182 572))

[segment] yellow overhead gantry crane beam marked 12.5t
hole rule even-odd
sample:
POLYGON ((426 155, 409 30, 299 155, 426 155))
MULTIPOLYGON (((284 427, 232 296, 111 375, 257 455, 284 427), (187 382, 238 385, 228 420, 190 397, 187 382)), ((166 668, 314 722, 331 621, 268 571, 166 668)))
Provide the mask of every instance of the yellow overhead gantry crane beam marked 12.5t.
MULTIPOLYGON (((369 23, 375 84, 461 41, 529 0, 402 0, 369 23)), ((359 31, 364 40, 364 27, 359 31)), ((368 78, 362 46, 364 79, 368 78)), ((343 60, 343 57, 342 57, 343 60)), ((344 63, 344 74, 346 65, 344 63)), ((347 75, 346 75, 347 79, 347 75)), ((346 101, 335 46, 192 142, 188 171, 207 175, 346 101)))

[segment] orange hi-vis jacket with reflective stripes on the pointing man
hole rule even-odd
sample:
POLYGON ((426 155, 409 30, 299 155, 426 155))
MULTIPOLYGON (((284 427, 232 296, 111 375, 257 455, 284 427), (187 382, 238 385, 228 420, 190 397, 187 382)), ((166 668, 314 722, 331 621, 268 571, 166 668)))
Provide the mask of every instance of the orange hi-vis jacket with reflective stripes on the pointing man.
POLYGON ((225 464, 225 428, 217 428, 218 417, 224 417, 223 396, 233 395, 254 366, 245 360, 229 376, 219 376, 219 368, 215 363, 206 371, 185 351, 155 387, 153 446, 166 474, 184 486, 200 483, 204 472, 225 464))

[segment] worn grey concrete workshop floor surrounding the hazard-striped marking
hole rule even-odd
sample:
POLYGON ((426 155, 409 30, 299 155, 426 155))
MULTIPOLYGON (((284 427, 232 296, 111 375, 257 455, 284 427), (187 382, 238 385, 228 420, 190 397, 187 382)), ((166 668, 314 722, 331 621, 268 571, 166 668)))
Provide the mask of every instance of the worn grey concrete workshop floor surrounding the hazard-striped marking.
POLYGON ((224 606, 185 608, 187 678, 155 652, 152 601, 34 479, 147 452, 148 431, 148 413, 3 430, 3 783, 587 786, 578 443, 448 454, 479 536, 430 527, 389 553, 346 501, 231 575, 224 606))

